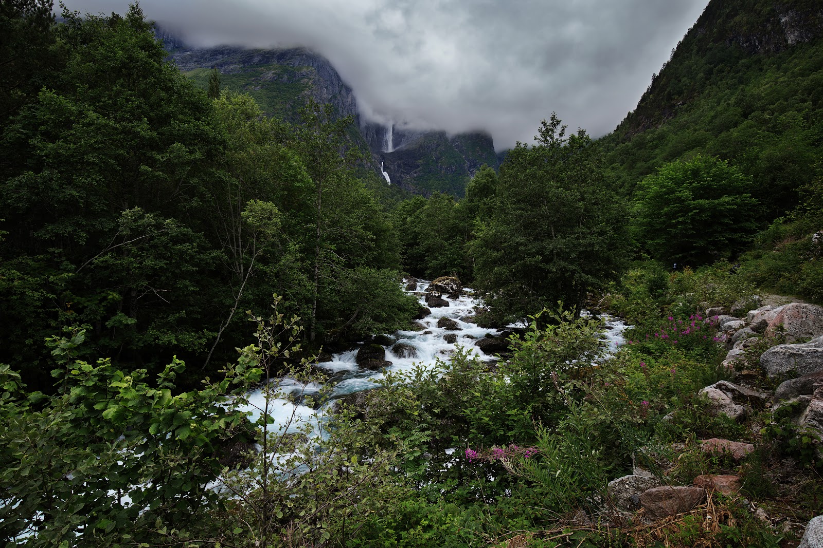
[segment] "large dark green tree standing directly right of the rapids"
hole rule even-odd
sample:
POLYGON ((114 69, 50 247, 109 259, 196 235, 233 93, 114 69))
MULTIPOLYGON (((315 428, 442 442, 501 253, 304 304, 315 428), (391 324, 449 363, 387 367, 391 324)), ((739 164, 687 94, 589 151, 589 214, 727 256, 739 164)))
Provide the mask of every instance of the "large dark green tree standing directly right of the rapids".
POLYGON ((469 246, 475 288, 499 320, 524 320, 557 301, 579 313, 588 291, 616 279, 629 246, 625 207, 585 131, 566 137, 552 114, 536 141, 509 151, 496 207, 477 219, 469 246))

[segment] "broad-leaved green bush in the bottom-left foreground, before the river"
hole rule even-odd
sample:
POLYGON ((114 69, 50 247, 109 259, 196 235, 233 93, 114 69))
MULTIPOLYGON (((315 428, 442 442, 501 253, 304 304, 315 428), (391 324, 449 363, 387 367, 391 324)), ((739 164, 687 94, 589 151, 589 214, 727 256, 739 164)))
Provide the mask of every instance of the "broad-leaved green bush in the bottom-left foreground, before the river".
POLYGON ((85 332, 47 341, 60 394, 26 394, 20 376, 0 366, 2 537, 36 546, 60 541, 105 544, 145 534, 156 520, 184 527, 216 504, 206 488, 221 472, 213 456, 244 431, 244 413, 227 395, 259 380, 243 366, 201 389, 179 392, 176 358, 151 384, 145 370, 126 374, 108 358, 77 360, 85 332))

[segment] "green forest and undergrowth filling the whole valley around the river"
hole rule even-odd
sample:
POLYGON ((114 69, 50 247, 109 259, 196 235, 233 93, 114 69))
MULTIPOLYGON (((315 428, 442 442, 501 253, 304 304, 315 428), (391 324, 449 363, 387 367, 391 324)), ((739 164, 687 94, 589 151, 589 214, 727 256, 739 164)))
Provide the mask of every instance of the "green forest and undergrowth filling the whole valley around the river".
POLYGON ((699 394, 770 348, 723 365, 708 307, 823 304, 821 39, 751 53, 693 28, 616 131, 547 113, 456 198, 387 187, 328 105, 285 121, 187 79, 138 5, 2 2, 0 35, 8 546, 777 547, 823 512, 819 435, 699 394), (321 408, 285 380, 330 388, 323 355, 414 329, 404 288, 443 276, 477 325, 519 326, 495 366, 458 348, 322 422, 270 417, 321 408), (630 326, 614 352, 607 315, 630 326), (638 466, 733 472, 788 525, 725 495, 638 521, 607 490, 638 466))

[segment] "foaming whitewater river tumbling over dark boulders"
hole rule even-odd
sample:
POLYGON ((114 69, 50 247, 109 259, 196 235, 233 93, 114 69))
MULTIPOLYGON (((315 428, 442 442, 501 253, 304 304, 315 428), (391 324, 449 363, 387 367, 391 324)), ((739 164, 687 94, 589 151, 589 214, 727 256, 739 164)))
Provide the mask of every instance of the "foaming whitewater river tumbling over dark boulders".
MULTIPOLYGON (((421 306, 429 307, 423 294, 428 287, 428 281, 419 280, 416 288, 407 292, 416 293, 421 306)), ((425 326, 425 329, 421 331, 398 331, 388 334, 390 338, 394 339, 392 344, 384 346, 386 349, 385 359, 392 362, 392 365, 388 367, 389 370, 407 371, 412 369, 415 364, 434 368, 438 359, 448 362, 449 356, 456 350, 458 345, 482 361, 495 361, 498 359, 495 356, 484 354, 480 348, 475 346, 475 342, 484 338, 486 334, 499 335, 503 329, 482 328, 471 321, 461 320, 461 318, 474 315, 474 308, 482 304, 477 298, 472 297, 472 290, 464 288, 463 293, 458 298, 449 298, 445 295, 442 298, 449 302, 449 306, 431 308, 430 315, 427 315, 419 322, 425 326), (449 331, 437 327, 438 320, 444 317, 454 320, 460 329, 449 331), (444 337, 448 334, 457 336, 455 343, 447 343, 444 340, 444 337), (395 353, 394 348, 398 343, 412 346, 415 349, 415 356, 404 356, 404 352, 399 352, 399 355, 395 353)), ((608 315, 602 315, 602 319, 605 320, 607 327, 603 335, 605 338, 604 343, 607 344, 608 351, 613 352, 625 342, 622 333, 626 325, 608 315)), ((509 326, 509 328, 512 327, 518 326, 509 326)), ((286 398, 277 398, 271 402, 269 404, 269 415, 275 419, 276 427, 274 430, 277 431, 278 426, 285 426, 288 431, 297 431, 307 422, 317 426, 319 421, 323 420, 323 415, 331 412, 334 399, 373 389, 376 386, 373 380, 382 378, 384 373, 383 371, 370 371, 358 366, 356 362, 357 350, 358 348, 354 348, 347 352, 339 352, 332 356, 332 361, 317 364, 321 370, 328 373, 330 383, 332 383, 330 393, 324 394, 328 401, 321 408, 309 408, 300 403, 295 405, 286 398)), ((272 382, 277 383, 278 389, 282 393, 291 393, 292 396, 298 397, 314 396, 321 389, 320 385, 304 385, 291 379, 272 380, 272 382)), ((300 401, 300 398, 298 398, 298 401, 300 401)), ((260 415, 259 409, 263 408, 263 404, 263 389, 255 390, 249 394, 249 406, 246 410, 252 413, 253 419, 256 419, 260 415)))

